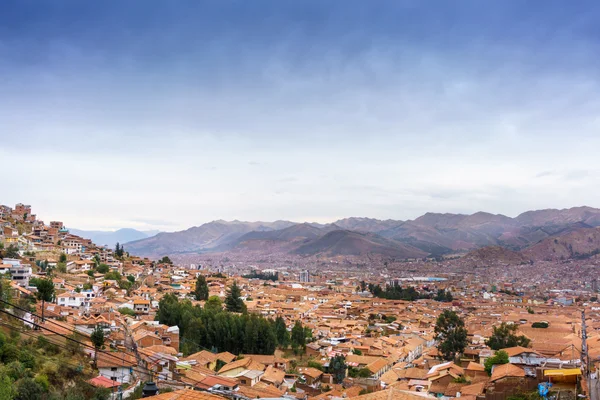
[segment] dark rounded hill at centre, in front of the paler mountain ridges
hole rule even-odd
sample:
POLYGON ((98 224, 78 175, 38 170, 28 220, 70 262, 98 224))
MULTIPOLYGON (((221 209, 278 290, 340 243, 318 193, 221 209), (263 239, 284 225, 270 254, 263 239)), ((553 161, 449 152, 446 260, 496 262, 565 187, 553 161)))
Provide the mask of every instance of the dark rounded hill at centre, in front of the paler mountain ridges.
POLYGON ((372 233, 335 230, 316 238, 294 251, 301 255, 364 256, 377 254, 395 258, 424 257, 426 252, 372 233))

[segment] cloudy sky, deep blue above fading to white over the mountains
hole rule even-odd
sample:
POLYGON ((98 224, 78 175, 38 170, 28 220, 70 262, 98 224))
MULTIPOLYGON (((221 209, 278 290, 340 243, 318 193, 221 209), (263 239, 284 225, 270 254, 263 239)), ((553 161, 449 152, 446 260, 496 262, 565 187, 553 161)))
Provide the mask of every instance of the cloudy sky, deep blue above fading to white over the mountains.
POLYGON ((0 203, 80 229, 600 207, 600 4, 3 0, 0 203))

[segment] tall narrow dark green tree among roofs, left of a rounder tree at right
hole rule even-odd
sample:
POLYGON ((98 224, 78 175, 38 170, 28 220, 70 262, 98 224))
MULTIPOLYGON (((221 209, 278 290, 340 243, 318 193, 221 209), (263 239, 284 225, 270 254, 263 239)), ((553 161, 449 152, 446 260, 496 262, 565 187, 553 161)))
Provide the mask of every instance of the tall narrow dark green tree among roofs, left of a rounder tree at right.
POLYGON ((454 311, 444 310, 435 324, 435 338, 438 351, 444 360, 454 360, 457 354, 467 347, 467 329, 465 322, 454 311))

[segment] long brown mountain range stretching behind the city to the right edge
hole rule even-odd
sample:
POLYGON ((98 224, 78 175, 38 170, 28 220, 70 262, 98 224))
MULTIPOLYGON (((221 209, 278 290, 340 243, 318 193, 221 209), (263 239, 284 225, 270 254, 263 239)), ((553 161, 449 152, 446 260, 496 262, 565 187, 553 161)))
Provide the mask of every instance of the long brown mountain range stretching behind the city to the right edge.
POLYGON ((126 243, 125 248, 132 254, 151 257, 252 251, 405 259, 468 253, 493 246, 518 252, 515 257, 527 259, 544 252, 541 247, 536 250, 537 245, 554 248, 556 258, 560 258, 591 254, 600 247, 600 240, 596 243, 595 239, 596 236, 600 239, 597 227, 600 227, 600 209, 591 207, 527 211, 515 218, 477 212, 426 213, 408 221, 351 217, 331 224, 218 220, 185 231, 135 240, 126 243), (556 243, 552 240, 547 244, 545 240, 549 238, 556 239, 556 243), (569 247, 571 241, 577 244, 569 247), (563 243, 562 250, 559 243, 563 243), (596 244, 598 247, 594 247, 596 244))

